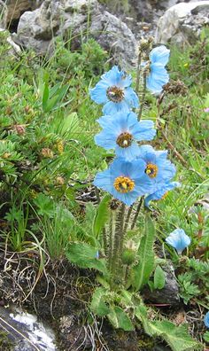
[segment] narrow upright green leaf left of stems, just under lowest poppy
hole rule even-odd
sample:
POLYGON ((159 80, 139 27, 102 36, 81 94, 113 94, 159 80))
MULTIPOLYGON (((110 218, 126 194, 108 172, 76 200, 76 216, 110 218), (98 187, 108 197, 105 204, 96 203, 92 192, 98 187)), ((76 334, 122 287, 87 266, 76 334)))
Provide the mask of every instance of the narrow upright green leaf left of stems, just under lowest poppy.
POLYGON ((97 207, 97 213, 93 222, 93 234, 96 238, 98 238, 99 234, 101 233, 101 230, 103 230, 104 228, 105 222, 107 222, 110 199, 111 195, 105 195, 97 207))

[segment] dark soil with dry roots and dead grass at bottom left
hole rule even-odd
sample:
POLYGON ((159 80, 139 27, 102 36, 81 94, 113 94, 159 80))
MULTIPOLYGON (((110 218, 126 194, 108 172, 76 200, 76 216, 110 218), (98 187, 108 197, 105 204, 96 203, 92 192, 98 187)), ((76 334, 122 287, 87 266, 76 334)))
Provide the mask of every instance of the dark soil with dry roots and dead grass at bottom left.
MULTIPOLYGON (((114 330, 96 319, 87 305, 95 284, 95 273, 77 269, 69 261, 48 262, 38 276, 38 257, 31 253, 0 253, 0 304, 21 305, 56 331, 59 351, 169 350, 142 330, 114 330), (28 278, 29 277, 29 278, 28 278)), ((1 328, 0 328, 1 332, 1 328)), ((0 351, 12 350, 10 340, 0 334, 0 351)), ((28 350, 29 351, 29 350, 28 350)))

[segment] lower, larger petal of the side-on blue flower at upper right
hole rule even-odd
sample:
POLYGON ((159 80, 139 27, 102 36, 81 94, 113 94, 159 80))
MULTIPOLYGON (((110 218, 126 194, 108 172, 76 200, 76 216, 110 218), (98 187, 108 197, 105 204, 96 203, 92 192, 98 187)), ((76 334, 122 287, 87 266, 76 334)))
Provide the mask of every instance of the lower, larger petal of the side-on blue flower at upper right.
POLYGON ((169 81, 169 75, 166 72, 166 68, 160 64, 151 64, 151 73, 147 77, 147 89, 153 93, 159 94, 165 85, 169 81))

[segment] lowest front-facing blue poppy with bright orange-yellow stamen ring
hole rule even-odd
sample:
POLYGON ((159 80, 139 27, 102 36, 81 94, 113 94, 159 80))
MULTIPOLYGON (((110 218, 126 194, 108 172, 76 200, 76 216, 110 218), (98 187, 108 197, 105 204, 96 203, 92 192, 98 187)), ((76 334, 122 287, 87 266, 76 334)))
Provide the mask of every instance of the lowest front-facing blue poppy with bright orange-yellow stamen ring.
POLYGON ((130 206, 139 196, 152 190, 151 180, 144 173, 145 167, 145 162, 140 159, 115 159, 110 168, 97 173, 94 185, 130 206))

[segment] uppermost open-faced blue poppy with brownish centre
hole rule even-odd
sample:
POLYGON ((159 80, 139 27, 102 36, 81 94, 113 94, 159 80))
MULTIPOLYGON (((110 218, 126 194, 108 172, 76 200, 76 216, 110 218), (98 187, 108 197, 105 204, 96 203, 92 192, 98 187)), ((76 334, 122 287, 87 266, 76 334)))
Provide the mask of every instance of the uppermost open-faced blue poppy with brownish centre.
POLYGON ((120 111, 129 111, 138 107, 138 98, 130 88, 132 78, 119 70, 118 66, 103 74, 101 81, 90 90, 90 98, 97 104, 104 104, 103 113, 112 114, 120 111))

